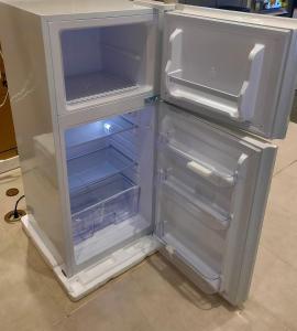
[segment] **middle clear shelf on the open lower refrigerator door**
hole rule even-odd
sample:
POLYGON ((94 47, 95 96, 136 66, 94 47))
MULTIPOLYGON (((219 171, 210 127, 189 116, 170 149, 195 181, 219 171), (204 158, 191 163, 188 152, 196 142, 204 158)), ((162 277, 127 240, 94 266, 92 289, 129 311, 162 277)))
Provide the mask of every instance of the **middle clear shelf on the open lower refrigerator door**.
POLYGON ((216 231, 224 231, 229 227, 232 220, 231 215, 223 215, 213 206, 205 203, 186 190, 183 190, 180 184, 178 184, 178 182, 175 183, 173 179, 164 181, 163 185, 165 194, 174 199, 177 204, 186 204, 188 211, 194 215, 202 214, 199 221, 206 226, 216 231))

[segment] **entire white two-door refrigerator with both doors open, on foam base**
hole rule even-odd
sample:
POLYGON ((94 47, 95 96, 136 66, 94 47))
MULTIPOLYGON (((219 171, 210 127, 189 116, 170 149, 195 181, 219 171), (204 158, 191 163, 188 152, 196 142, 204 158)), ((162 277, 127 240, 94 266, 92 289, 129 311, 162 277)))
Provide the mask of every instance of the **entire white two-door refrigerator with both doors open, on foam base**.
POLYGON ((72 299, 157 250, 248 298, 296 30, 154 1, 0 2, 22 224, 72 299))

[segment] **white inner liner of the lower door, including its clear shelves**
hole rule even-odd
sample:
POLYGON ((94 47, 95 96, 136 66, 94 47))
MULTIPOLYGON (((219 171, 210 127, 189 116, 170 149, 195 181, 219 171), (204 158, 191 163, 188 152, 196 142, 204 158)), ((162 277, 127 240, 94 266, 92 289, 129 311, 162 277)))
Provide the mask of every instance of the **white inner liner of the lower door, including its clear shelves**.
MULTIPOLYGON (((249 226, 258 156, 240 139, 174 109, 163 105, 160 115, 157 235, 216 292, 231 242, 249 226)), ((230 268, 235 275, 240 267, 230 268)))

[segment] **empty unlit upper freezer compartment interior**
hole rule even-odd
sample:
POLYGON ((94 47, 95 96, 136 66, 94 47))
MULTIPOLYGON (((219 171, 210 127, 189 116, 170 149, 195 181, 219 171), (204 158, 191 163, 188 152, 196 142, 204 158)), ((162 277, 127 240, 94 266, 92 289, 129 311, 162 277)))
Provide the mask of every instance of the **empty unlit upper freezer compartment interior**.
POLYGON ((145 84, 147 22, 63 30, 66 102, 135 89, 145 84))

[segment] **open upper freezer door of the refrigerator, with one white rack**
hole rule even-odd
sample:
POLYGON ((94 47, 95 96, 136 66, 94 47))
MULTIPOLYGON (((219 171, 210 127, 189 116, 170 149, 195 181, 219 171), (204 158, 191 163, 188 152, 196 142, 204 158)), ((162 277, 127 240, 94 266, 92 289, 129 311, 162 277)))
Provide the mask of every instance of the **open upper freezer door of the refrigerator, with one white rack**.
POLYGON ((177 7, 164 22, 162 98, 265 138, 284 138, 297 68, 297 24, 177 7))

